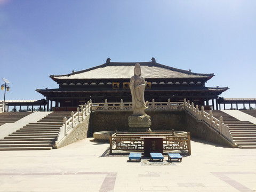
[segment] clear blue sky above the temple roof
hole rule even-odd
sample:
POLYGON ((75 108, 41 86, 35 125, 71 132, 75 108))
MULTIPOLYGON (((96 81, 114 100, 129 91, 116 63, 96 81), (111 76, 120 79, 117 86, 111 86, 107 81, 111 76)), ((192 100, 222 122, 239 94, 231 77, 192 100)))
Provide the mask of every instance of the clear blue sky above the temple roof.
MULTIPOLYGON (((6 100, 42 99, 62 75, 115 62, 214 73, 224 98, 256 98, 256 1, 0 0, 6 100)), ((2 81, 2 83, 4 83, 2 81)), ((1 84, 2 84, 1 83, 1 84)), ((0 100, 4 91, 0 92, 0 100)))

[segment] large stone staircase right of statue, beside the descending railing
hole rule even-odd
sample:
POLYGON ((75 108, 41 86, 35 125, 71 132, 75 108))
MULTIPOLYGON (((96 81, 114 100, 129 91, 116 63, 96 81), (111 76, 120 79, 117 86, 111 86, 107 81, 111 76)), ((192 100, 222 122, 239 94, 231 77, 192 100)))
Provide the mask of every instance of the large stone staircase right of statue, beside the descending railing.
POLYGON ((234 141, 239 148, 256 149, 256 125, 248 121, 239 121, 223 111, 213 110, 213 116, 223 117, 223 122, 229 127, 234 141))

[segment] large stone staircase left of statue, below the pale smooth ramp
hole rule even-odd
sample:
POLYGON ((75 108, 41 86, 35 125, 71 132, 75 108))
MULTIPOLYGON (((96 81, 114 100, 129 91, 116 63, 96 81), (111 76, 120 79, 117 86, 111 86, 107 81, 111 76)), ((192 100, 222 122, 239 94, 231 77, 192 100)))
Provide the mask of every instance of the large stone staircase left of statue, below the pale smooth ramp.
POLYGON ((63 117, 70 111, 53 112, 36 123, 29 123, 20 130, 0 140, 0 150, 49 150, 57 139, 63 117))

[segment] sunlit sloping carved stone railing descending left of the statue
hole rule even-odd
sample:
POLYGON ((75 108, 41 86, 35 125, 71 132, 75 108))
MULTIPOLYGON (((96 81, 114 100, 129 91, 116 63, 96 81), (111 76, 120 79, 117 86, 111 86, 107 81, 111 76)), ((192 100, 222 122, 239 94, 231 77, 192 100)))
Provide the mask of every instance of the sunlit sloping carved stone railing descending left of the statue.
POLYGON ((83 122, 86 116, 91 113, 92 103, 87 102, 87 105, 81 105, 77 107, 77 111, 71 112, 71 116, 69 119, 67 117, 63 118, 63 125, 60 127, 60 131, 57 136, 57 140, 55 141, 55 146, 59 145, 62 139, 64 139, 68 133, 73 130, 80 122, 83 122))

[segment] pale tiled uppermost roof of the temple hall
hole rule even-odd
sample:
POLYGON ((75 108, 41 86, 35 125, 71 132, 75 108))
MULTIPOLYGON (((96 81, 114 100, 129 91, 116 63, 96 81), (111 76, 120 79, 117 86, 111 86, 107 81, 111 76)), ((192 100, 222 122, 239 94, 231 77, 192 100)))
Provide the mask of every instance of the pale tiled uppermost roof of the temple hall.
POLYGON ((119 79, 131 78, 135 63, 140 63, 141 75, 145 78, 207 78, 214 74, 198 74, 191 71, 181 70, 164 66, 156 62, 107 62, 103 65, 90 69, 73 72, 67 75, 51 75, 54 80, 58 79, 119 79))

